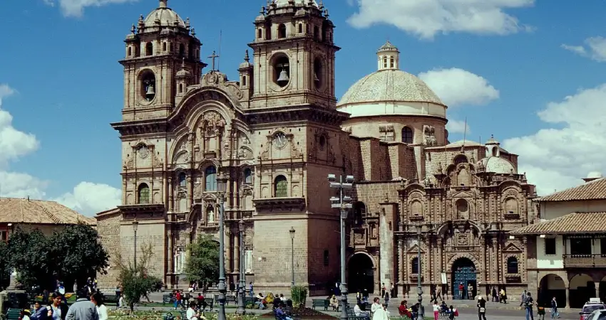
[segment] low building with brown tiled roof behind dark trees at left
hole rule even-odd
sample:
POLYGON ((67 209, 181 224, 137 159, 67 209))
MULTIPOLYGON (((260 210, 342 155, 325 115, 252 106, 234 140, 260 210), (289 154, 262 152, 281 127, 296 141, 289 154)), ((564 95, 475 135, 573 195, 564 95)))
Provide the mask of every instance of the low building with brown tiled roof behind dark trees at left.
POLYGON ((89 218, 55 201, 28 198, 0 198, 0 240, 9 240, 17 228, 40 230, 52 235, 66 225, 83 223, 96 225, 95 218, 89 218))

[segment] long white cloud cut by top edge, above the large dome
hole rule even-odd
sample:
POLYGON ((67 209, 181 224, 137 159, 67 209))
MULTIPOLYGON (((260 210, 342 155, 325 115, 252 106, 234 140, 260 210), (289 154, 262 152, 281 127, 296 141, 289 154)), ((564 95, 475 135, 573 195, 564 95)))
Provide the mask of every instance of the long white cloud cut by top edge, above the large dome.
POLYGON ((356 0, 359 12, 348 22, 356 28, 385 23, 419 38, 465 32, 505 35, 530 30, 506 9, 532 6, 535 0, 356 0))

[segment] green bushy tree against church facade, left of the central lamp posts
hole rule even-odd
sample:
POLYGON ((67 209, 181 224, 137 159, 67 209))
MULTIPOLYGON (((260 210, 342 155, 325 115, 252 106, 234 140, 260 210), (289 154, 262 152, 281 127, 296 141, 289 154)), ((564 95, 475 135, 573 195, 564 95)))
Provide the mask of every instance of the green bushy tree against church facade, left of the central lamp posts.
POLYGON ((219 243, 210 235, 200 235, 188 245, 185 274, 190 281, 215 283, 219 278, 219 243))

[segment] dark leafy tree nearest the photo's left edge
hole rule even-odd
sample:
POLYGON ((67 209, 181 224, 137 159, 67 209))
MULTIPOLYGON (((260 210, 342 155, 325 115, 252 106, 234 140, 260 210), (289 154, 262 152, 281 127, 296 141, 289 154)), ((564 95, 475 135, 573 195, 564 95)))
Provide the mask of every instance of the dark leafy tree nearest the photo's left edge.
POLYGON ((40 230, 26 233, 17 228, 9 238, 10 265, 18 272, 18 280, 29 289, 39 285, 41 289, 53 289, 50 275, 55 272, 56 259, 51 254, 48 238, 40 230))

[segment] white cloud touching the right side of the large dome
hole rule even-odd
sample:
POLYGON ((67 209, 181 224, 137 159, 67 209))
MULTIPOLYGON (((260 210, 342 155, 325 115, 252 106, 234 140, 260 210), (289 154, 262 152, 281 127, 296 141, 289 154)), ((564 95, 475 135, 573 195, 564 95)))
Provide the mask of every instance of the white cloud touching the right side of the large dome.
POLYGON ((435 69, 420 73, 418 78, 450 107, 484 105, 499 97, 498 90, 488 80, 459 68, 435 69))

